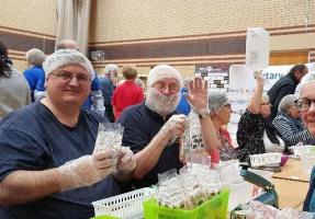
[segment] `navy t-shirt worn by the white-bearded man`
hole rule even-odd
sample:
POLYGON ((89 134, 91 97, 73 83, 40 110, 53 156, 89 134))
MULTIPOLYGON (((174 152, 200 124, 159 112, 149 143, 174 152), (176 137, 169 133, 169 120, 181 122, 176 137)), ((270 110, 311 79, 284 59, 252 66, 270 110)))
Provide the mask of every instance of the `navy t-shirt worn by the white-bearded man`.
MULTIPOLYGON (((173 113, 175 114, 175 113, 173 113)), ((172 114, 171 114, 172 115, 172 114)), ((123 111, 117 123, 124 127, 123 146, 128 146, 134 153, 143 150, 161 129, 165 123, 162 117, 150 111, 144 103, 133 105, 123 111)), ((179 160, 179 142, 165 147, 157 164, 142 180, 132 180, 126 191, 154 185, 158 182, 158 174, 171 169, 179 170, 182 163, 179 160)))

